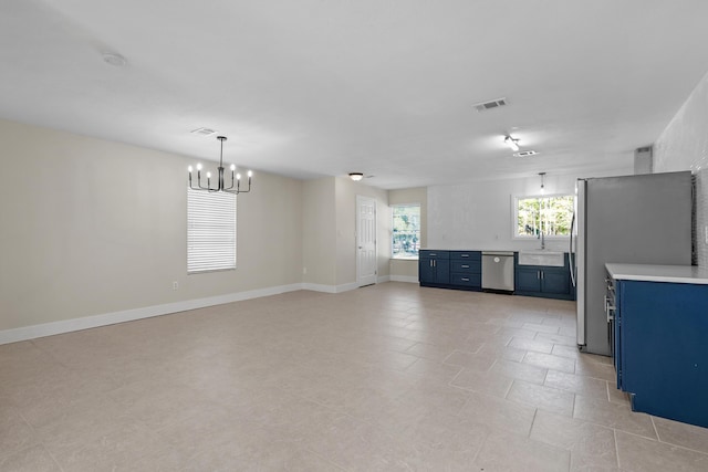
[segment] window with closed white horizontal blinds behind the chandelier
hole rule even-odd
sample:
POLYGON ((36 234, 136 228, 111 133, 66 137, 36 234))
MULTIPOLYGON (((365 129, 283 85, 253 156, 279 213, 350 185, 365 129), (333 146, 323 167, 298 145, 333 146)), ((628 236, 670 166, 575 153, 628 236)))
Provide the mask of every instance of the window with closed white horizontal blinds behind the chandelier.
POLYGON ((236 269, 236 196, 187 188, 187 273, 236 269))

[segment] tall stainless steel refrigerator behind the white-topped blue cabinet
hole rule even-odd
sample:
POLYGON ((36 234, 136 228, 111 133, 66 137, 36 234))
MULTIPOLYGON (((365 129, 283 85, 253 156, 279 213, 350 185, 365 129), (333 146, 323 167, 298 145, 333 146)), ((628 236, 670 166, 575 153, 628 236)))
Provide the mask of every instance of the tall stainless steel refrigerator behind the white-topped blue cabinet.
MULTIPOLYGON (((691 263, 691 172, 579 179, 573 281, 577 345, 611 355, 605 263, 691 263)), ((573 233, 574 231, 571 231, 573 233)), ((571 239, 571 252, 573 241, 571 239)))

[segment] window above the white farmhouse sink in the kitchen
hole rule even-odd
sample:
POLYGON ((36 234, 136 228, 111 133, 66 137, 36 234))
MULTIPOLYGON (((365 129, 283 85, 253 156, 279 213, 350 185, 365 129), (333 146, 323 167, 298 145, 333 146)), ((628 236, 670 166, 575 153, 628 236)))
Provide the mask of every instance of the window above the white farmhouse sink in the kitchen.
POLYGON ((570 235, 573 206, 572 195, 517 197, 514 238, 570 235))

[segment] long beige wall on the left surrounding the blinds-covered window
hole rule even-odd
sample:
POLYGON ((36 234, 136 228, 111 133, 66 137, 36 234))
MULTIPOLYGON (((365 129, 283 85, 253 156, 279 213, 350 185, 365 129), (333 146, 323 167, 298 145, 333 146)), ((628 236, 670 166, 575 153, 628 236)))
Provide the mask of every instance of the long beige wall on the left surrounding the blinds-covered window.
POLYGON ((264 172, 238 197, 237 270, 187 275, 189 164, 0 120, 0 331, 301 283, 303 182, 264 172))

